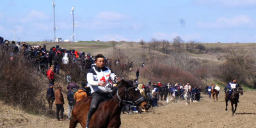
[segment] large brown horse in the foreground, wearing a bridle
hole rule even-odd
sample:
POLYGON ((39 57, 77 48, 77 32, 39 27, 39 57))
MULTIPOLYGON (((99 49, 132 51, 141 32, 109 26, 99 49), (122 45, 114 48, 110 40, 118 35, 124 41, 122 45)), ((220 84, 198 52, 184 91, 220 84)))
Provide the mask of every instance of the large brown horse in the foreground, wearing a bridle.
MULTIPOLYGON (((77 102, 72 110, 72 118, 70 120, 70 128, 76 127, 79 122, 82 127, 86 126, 87 113, 90 109, 92 97, 86 97, 77 102)), ((136 86, 132 82, 118 82, 118 89, 113 99, 101 102, 99 108, 93 113, 90 120, 90 127, 120 127, 121 111, 124 104, 132 104, 149 109, 150 105, 140 94, 136 86)))

